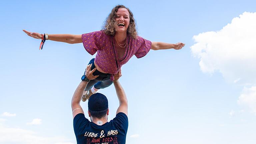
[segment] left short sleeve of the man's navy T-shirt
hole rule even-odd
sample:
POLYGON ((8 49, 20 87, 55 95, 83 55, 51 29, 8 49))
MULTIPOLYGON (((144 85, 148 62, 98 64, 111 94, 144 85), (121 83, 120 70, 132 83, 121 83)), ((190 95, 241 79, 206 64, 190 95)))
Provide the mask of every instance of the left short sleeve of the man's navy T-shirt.
POLYGON ((86 127, 89 124, 89 120, 84 116, 83 113, 77 114, 73 119, 73 127, 75 135, 81 133, 84 127, 86 127))

